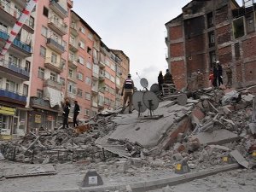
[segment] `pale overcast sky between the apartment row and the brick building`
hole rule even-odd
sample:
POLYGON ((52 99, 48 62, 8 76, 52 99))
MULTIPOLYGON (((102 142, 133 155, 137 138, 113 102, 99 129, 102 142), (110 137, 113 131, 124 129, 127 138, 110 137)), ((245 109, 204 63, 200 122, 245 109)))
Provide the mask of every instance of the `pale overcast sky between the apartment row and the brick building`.
MULTIPOLYGON (((131 79, 148 88, 166 72, 166 22, 182 13, 189 0, 73 0, 80 15, 110 49, 121 49, 130 58, 131 79), (138 74, 138 75, 137 75, 138 74)), ((237 3, 242 0, 236 1, 237 3)))

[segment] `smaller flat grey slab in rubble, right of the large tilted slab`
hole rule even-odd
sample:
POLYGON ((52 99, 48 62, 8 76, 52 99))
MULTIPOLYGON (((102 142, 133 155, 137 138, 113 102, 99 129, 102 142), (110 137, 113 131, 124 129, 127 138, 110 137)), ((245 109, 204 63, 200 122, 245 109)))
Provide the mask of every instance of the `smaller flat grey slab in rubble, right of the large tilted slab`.
POLYGON ((191 137, 192 139, 198 139, 201 145, 204 144, 224 144, 230 143, 236 140, 239 140, 240 137, 237 134, 228 131, 228 130, 218 130, 212 132, 200 132, 195 136, 191 137))

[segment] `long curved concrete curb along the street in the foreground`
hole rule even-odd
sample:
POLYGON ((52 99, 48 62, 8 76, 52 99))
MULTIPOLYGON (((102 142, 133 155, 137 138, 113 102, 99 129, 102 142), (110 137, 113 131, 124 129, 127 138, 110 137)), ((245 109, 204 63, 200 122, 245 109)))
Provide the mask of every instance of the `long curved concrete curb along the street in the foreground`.
POLYGON ((132 192, 143 192, 148 190, 164 188, 166 187, 166 185, 173 186, 181 183, 187 183, 189 181, 192 181, 198 178, 211 176, 211 175, 217 174, 218 172, 228 172, 230 170, 234 170, 239 167, 240 167, 239 164, 231 164, 228 166, 220 166, 216 168, 214 167, 206 171, 190 172, 183 175, 177 175, 177 177, 169 177, 169 178, 157 179, 157 180, 152 180, 147 182, 120 184, 115 186, 102 185, 102 186, 96 186, 96 187, 63 189, 63 190, 44 191, 44 192, 107 192, 107 191, 115 191, 115 190, 126 191, 126 187, 128 185, 131 187, 132 192))

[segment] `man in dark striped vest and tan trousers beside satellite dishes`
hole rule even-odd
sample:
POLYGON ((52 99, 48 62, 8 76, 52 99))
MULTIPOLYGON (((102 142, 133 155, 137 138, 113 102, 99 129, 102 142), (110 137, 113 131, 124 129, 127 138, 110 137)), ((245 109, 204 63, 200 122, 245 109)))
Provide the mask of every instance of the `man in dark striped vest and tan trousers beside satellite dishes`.
POLYGON ((121 113, 125 112, 125 105, 127 100, 129 99, 129 113, 131 113, 131 102, 132 102, 132 95, 134 92, 134 83, 133 80, 131 79, 131 74, 128 74, 127 79, 125 79, 125 82, 123 84, 121 96, 124 96, 124 102, 123 102, 123 108, 121 113), (125 96, 124 96, 124 90, 125 90, 125 96))

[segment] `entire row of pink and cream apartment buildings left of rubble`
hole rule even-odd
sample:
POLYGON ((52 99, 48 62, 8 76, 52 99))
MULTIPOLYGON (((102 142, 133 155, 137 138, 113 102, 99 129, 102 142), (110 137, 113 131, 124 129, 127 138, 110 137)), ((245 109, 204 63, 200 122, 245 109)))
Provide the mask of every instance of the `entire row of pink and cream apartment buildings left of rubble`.
MULTIPOLYGON (((0 5, 3 47, 26 0, 1 0, 0 5)), ((48 131, 60 127, 66 99, 72 106, 70 121, 74 101, 79 102, 80 120, 120 107, 117 67, 122 61, 72 8, 71 0, 38 1, 1 59, 1 134, 22 136, 41 126, 48 131)))

